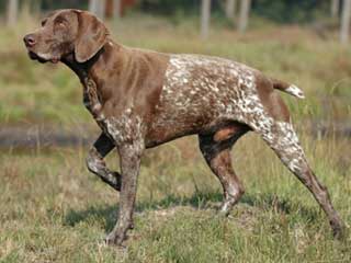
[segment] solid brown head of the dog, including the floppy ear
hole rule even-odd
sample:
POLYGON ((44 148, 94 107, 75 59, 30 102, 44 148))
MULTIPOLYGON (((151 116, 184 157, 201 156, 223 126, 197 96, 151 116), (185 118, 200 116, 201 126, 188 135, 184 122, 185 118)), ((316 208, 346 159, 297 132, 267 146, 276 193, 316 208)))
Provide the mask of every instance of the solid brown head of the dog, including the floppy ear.
POLYGON ((30 57, 41 62, 58 62, 75 55, 78 62, 91 59, 106 43, 107 28, 93 14, 59 10, 42 21, 42 27, 24 37, 30 57))

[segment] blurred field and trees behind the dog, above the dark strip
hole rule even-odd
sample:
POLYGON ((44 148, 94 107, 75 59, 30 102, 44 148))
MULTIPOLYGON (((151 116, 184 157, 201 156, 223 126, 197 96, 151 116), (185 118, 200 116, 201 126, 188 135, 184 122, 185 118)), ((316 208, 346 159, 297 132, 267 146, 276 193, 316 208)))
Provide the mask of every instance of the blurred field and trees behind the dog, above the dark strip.
POLYGON ((287 103, 299 122, 314 133, 351 132, 348 0, 2 0, 0 119, 8 129, 90 126, 77 78, 30 61, 21 41, 63 8, 90 10, 125 45, 227 57, 296 83, 307 100, 287 103))

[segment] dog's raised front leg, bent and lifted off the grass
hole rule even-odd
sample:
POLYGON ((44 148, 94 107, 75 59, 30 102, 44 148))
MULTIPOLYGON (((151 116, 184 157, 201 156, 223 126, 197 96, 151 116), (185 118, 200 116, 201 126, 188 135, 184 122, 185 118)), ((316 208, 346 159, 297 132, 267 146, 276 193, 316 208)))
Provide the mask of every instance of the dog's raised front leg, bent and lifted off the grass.
POLYGON ((113 141, 102 133, 87 157, 87 167, 90 172, 97 174, 103 182, 116 191, 121 191, 121 174, 106 168, 103 158, 114 149, 113 141))

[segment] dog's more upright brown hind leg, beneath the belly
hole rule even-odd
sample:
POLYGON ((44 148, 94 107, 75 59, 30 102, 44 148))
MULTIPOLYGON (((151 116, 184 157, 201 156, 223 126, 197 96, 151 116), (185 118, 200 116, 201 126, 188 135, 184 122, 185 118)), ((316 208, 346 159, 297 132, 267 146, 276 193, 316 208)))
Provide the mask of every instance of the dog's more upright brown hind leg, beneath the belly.
POLYGON ((224 201, 220 213, 226 216, 244 194, 244 186, 234 172, 230 158, 233 145, 248 132, 246 126, 238 127, 219 129, 215 134, 199 136, 201 152, 223 186, 224 201), (228 138, 227 135, 230 137, 228 138))

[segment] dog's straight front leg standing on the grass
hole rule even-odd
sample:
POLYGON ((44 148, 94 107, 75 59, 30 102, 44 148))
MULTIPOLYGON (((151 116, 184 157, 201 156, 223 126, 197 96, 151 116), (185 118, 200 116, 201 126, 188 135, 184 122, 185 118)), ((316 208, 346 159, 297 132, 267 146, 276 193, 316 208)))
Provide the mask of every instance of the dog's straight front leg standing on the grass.
POLYGON ((106 237, 107 244, 122 245, 127 230, 133 225, 133 211, 136 197, 137 178, 140 169, 140 158, 145 146, 137 140, 118 146, 122 171, 122 187, 120 194, 118 221, 106 237))

